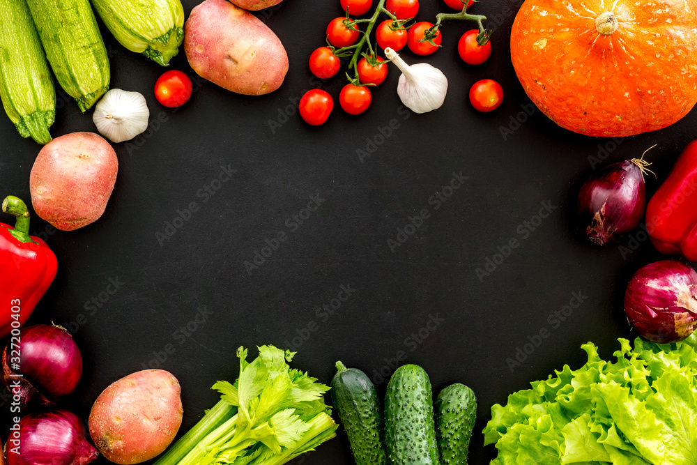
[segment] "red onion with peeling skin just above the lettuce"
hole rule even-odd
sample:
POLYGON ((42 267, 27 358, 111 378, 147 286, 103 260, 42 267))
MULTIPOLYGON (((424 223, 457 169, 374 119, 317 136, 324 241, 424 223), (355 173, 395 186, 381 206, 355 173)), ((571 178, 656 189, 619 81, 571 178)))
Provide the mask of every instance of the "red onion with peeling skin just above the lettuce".
POLYGON ((684 340, 697 326, 697 272, 675 260, 644 266, 629 281, 625 313, 644 339, 684 340))

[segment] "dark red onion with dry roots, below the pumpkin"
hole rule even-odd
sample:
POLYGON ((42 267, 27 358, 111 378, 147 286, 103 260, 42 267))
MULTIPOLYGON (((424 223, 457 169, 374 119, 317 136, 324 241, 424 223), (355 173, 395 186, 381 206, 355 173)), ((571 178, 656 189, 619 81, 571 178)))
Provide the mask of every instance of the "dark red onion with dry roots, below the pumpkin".
POLYGON ((605 245, 636 228, 646 208, 646 186, 633 160, 613 163, 583 183, 578 198, 585 234, 605 245))

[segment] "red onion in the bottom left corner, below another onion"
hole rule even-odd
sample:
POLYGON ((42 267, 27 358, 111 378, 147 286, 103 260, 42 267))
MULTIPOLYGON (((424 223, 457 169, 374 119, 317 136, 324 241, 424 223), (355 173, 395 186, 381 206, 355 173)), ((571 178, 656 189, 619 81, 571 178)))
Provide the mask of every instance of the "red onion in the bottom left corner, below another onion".
POLYGON ((99 456, 82 421, 65 410, 22 417, 10 427, 5 448, 7 465, 84 465, 99 456))

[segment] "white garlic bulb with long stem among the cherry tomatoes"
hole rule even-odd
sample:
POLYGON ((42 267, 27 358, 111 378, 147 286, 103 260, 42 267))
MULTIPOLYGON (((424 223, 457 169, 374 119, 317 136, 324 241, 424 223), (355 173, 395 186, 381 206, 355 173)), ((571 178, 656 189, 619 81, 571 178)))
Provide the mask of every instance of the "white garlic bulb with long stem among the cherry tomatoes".
POLYGON ((447 78, 441 70, 429 63, 409 66, 390 47, 385 49, 385 56, 401 70, 397 94, 406 107, 415 113, 426 113, 443 105, 447 78))

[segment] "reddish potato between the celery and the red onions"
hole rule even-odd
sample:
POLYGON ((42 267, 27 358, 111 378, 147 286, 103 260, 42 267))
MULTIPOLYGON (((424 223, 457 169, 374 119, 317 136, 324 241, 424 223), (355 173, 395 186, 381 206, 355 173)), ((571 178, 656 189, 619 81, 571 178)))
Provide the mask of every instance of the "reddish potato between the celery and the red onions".
POLYGON ((92 406, 92 441, 116 464, 139 464, 160 455, 181 426, 180 394, 177 379, 162 369, 119 379, 92 406))

